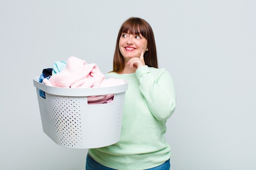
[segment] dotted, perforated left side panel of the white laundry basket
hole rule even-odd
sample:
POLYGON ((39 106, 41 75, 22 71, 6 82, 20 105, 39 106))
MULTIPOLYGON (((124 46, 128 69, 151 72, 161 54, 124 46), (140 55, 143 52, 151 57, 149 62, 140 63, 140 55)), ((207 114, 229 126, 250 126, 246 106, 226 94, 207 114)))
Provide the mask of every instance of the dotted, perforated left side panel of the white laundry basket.
POLYGON ((56 144, 67 147, 82 147, 80 97, 63 97, 45 93, 38 95, 38 104, 43 131, 56 144))

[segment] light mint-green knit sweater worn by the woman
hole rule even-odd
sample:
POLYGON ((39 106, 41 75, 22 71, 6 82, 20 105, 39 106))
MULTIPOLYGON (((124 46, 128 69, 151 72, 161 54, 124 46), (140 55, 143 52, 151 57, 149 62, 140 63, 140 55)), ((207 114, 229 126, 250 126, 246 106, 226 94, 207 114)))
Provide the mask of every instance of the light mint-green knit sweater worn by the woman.
POLYGON ((120 140, 111 146, 89 149, 104 166, 144 170, 161 165, 170 156, 164 138, 166 120, 173 114, 176 92, 165 68, 141 66, 131 74, 106 74, 128 80, 120 140))

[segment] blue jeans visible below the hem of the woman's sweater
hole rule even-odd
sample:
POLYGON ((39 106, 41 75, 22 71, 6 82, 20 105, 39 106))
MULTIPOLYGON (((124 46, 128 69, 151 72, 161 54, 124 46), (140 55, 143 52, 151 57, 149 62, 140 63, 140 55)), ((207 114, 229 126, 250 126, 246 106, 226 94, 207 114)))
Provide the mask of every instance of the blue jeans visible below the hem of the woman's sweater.
MULTIPOLYGON (((86 165, 85 165, 85 170, 116 170, 112 168, 108 168, 106 166, 101 165, 97 161, 95 161, 89 153, 87 154, 86 157, 86 165)), ((155 168, 150 168, 147 170, 170 170, 170 159, 168 159, 165 163, 162 165, 159 165, 155 168)))

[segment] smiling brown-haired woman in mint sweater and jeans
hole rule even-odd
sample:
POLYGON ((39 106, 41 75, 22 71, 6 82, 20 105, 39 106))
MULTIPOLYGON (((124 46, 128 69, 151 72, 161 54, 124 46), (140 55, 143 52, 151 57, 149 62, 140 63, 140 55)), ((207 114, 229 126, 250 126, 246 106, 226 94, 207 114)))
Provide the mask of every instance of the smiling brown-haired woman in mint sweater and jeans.
POLYGON ((171 75, 157 66, 151 26, 129 18, 118 33, 113 71, 128 80, 120 140, 88 150, 86 170, 169 170, 170 146, 164 138, 176 93, 171 75))

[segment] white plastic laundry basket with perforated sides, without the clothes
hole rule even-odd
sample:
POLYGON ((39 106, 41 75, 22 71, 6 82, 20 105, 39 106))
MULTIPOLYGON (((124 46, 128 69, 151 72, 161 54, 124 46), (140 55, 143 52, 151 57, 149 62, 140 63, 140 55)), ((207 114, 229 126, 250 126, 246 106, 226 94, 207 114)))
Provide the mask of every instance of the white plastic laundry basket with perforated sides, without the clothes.
MULTIPOLYGON (((106 76, 106 78, 110 78, 106 76)), ((68 148, 100 148, 120 139, 125 84, 99 88, 47 86, 33 78, 43 131, 56 144, 68 148), (39 95, 45 92, 45 98, 39 95), (88 104, 87 96, 114 94, 112 103, 88 104)))

